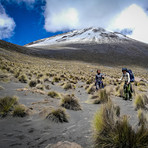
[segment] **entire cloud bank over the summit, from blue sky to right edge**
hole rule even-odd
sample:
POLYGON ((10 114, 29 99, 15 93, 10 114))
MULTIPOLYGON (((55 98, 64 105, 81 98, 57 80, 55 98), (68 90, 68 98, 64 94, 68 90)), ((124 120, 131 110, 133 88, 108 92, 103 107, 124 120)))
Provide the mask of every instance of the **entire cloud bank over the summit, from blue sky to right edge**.
POLYGON ((46 0, 44 28, 56 32, 98 26, 124 30, 148 43, 147 8, 147 0, 46 0))

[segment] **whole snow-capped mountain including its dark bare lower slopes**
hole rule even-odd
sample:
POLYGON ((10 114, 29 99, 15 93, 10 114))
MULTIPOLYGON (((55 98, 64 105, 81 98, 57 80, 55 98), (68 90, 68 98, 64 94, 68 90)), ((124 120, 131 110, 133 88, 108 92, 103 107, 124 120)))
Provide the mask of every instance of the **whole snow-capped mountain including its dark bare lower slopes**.
POLYGON ((148 67, 148 44, 102 28, 85 28, 25 45, 47 58, 148 67))

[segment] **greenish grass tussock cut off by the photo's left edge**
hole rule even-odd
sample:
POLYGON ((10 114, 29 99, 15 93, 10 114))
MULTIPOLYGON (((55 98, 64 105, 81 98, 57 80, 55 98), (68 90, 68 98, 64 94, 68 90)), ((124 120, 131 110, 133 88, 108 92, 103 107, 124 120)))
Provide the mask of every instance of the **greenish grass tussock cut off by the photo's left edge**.
POLYGON ((17 97, 0 98, 0 116, 6 116, 18 104, 17 97))

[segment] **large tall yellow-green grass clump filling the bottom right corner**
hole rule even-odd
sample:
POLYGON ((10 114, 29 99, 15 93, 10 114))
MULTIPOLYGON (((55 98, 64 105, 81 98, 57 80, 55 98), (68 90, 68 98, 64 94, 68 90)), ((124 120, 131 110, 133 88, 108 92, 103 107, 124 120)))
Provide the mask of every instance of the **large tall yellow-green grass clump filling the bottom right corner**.
POLYGON ((148 127, 143 124, 135 129, 128 117, 117 117, 117 110, 111 102, 103 104, 93 120, 95 148, 147 148, 148 127))

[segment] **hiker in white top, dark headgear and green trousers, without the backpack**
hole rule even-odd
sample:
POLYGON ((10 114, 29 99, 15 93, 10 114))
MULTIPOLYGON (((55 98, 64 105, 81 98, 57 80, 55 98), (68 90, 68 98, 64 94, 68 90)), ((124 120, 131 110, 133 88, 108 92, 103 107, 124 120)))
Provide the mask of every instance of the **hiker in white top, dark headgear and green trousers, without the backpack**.
POLYGON ((121 80, 124 80, 124 87, 123 87, 123 89, 124 89, 124 97, 125 97, 125 99, 127 100, 127 99, 129 99, 129 100, 131 100, 131 98, 132 98, 132 85, 131 85, 131 80, 130 80, 130 74, 128 73, 128 70, 127 70, 127 68, 122 68, 122 73, 123 73, 123 75, 122 75, 122 77, 119 79, 120 81, 121 80))

